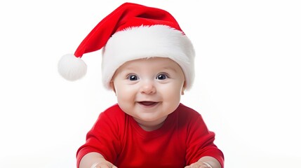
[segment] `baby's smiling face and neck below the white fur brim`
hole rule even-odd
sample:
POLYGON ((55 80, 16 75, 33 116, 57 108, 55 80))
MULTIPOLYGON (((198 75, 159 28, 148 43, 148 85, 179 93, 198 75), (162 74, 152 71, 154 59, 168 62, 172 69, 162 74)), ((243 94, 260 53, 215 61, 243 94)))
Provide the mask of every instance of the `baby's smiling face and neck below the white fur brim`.
POLYGON ((185 76, 169 58, 135 59, 116 70, 111 87, 125 113, 144 130, 156 130, 179 106, 185 76))

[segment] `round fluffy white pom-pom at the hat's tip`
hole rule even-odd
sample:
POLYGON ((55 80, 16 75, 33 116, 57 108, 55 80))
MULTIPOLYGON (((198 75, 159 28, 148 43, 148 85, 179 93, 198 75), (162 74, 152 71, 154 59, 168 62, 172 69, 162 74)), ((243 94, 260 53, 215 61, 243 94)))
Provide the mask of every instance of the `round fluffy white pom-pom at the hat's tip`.
POLYGON ((68 54, 58 62, 58 72, 65 79, 74 81, 86 75, 87 65, 81 58, 68 54))

